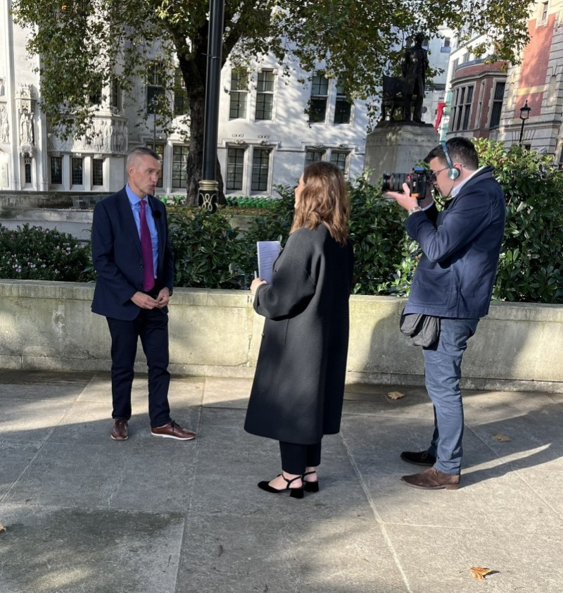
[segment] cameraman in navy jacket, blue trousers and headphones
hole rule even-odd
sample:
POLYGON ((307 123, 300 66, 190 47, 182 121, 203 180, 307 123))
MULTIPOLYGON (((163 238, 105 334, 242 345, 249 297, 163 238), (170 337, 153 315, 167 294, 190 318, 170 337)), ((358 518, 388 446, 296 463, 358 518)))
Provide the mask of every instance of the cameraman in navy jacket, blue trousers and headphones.
POLYGON ((467 340, 488 313, 505 227, 505 196, 491 166, 479 168, 473 143, 455 137, 432 149, 426 196, 388 192, 405 208, 407 233, 419 242, 422 258, 412 279, 405 313, 440 318, 440 335, 423 349, 426 390, 434 404, 434 435, 426 451, 401 458, 431 466, 401 477, 416 488, 455 489, 460 484, 463 404, 461 364, 467 340), (443 199, 438 211, 432 185, 443 199))

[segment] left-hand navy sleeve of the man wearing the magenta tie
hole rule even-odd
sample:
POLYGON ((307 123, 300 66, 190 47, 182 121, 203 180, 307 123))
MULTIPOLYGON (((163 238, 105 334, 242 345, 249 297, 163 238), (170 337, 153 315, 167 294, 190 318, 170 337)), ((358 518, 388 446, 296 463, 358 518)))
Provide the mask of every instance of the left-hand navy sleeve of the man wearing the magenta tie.
POLYGON ((115 239, 113 228, 103 201, 96 204, 92 219, 92 263, 102 280, 118 298, 120 304, 125 304, 137 292, 121 273, 114 261, 113 250, 115 239))

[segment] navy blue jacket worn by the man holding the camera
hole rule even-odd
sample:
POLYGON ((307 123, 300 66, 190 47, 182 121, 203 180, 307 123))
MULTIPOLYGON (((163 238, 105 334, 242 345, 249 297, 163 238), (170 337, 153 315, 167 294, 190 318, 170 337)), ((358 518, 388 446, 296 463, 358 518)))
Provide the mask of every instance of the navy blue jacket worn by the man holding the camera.
POLYGON ((405 313, 481 318, 488 313, 504 235, 506 203, 486 167, 470 179, 448 207, 411 214, 407 232, 422 258, 405 313))

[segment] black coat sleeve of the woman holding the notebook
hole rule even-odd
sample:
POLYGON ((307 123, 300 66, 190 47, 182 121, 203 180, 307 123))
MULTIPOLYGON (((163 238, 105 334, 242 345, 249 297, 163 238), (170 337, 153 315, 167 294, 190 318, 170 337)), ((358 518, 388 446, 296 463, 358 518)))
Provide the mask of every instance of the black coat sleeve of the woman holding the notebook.
POLYGON ((294 242, 291 247, 288 242, 274 263, 272 284, 258 287, 254 309, 259 315, 267 319, 286 319, 303 313, 307 308, 317 285, 308 270, 310 258, 303 257, 303 252, 297 256, 298 251, 294 242))

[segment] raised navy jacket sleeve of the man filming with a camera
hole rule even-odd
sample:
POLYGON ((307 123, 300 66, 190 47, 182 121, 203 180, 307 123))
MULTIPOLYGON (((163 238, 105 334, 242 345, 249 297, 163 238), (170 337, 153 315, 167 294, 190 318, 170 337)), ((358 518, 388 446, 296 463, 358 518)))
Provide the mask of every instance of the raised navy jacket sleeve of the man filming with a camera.
POLYGON ((426 257, 430 261, 441 262, 472 242, 476 235, 491 224, 491 216, 488 195, 474 191, 453 204, 438 226, 418 213, 409 216, 405 226, 410 237, 419 242, 426 257))

